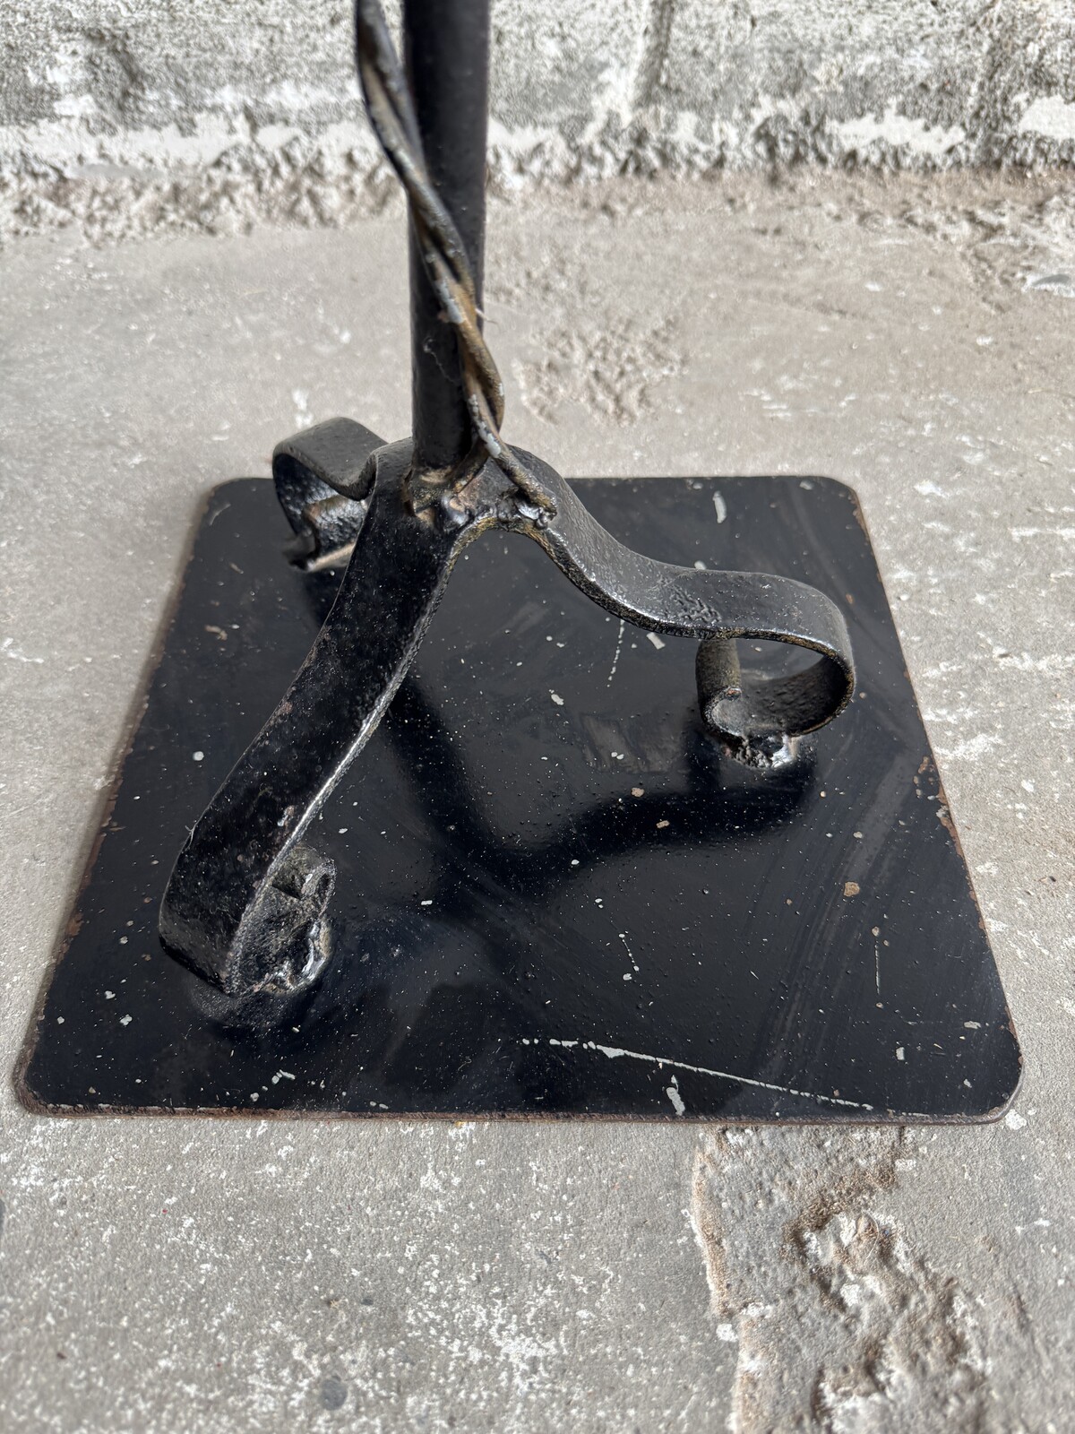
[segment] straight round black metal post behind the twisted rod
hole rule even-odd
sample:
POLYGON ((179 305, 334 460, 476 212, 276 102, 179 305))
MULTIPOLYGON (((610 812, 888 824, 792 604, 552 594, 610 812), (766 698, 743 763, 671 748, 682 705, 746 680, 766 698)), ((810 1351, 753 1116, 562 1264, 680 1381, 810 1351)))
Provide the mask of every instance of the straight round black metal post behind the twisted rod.
MULTIPOLYGON (((430 178, 456 221, 482 301, 489 0, 403 0, 403 57, 430 178)), ((472 446, 459 353, 410 238, 414 459, 447 467, 472 446)))

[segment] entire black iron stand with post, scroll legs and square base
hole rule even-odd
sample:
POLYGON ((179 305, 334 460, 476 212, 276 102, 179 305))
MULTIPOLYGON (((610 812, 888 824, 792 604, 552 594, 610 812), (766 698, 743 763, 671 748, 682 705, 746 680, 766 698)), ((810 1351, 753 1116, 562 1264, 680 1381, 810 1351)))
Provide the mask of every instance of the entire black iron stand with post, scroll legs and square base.
POLYGON ((367 110, 410 204, 413 437, 334 419, 278 446, 291 568, 265 485, 218 492, 232 519, 204 526, 125 769, 146 790, 125 776, 23 1098, 990 1119, 1018 1047, 853 496, 725 480, 738 526, 712 561, 692 556, 711 482, 591 483, 588 508, 509 447, 480 311, 487 0, 406 0, 410 83, 376 0, 355 14, 367 110), (658 513, 664 559, 626 545, 658 513), (509 559, 505 535, 533 539, 578 594, 535 598, 536 549, 509 559), (854 691, 834 599, 856 589, 870 687, 830 728, 854 691), (198 627, 206 591, 249 640, 206 651, 199 632, 222 631, 198 627), (569 655, 535 688, 550 601, 563 635, 543 635, 569 655), (628 624, 652 645, 626 644, 628 624), (185 754, 211 746, 191 780, 185 754), (158 903, 175 961, 150 941, 158 903), (150 946, 135 967, 132 941, 150 946), (116 1030, 102 1001, 122 987, 116 1030))

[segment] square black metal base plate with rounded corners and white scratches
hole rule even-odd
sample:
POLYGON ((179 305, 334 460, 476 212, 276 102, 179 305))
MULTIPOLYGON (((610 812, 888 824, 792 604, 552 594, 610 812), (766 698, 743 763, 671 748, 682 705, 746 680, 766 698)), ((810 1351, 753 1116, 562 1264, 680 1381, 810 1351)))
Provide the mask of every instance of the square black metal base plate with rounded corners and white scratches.
POLYGON ((578 489, 646 554, 841 602, 847 713, 793 764, 744 767, 701 727, 694 642, 621 627, 535 543, 482 539, 311 833, 338 869, 327 974, 287 1005, 228 1001, 162 951, 158 905, 338 574, 281 558, 269 483, 226 483, 27 1040, 26 1104, 1000 1114, 1019 1048, 854 495, 797 478, 578 489))

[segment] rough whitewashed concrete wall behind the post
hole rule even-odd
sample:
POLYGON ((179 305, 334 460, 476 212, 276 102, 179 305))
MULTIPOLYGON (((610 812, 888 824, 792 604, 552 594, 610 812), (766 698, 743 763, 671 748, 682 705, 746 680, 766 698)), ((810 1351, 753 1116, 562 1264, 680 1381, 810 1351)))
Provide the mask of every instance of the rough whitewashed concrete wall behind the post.
MULTIPOLYGON (((374 212, 350 24, 340 0, 0 0, 0 237, 374 212)), ((502 188, 1075 161, 1069 0, 496 0, 492 85, 502 188)))

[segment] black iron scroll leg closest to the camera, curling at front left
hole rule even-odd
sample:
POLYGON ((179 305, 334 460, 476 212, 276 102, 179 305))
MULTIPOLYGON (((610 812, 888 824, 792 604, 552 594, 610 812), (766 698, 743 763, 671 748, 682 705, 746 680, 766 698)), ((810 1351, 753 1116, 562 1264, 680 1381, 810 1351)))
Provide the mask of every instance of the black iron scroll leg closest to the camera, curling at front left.
POLYGON ((229 994, 308 982, 335 869, 304 835, 410 667, 473 522, 416 518, 410 443, 381 449, 368 516, 287 695, 206 807, 161 908, 165 945, 229 994))

